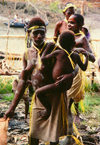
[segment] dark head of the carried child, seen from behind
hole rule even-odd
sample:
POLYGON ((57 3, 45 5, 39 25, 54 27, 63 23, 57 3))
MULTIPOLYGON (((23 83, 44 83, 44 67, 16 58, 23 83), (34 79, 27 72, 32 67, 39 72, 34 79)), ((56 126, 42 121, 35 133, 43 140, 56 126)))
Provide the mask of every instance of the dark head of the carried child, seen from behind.
POLYGON ((75 45, 75 36, 72 31, 65 31, 59 37, 59 44, 62 48, 71 51, 75 45))

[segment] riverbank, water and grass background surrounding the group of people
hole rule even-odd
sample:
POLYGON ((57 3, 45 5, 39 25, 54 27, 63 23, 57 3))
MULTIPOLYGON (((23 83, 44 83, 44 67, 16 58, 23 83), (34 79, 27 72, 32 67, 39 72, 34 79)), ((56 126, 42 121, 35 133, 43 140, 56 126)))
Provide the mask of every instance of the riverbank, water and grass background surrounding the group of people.
MULTIPOLYGON (((96 62, 90 64, 86 72, 88 84, 85 88, 84 108, 81 111, 82 123, 79 132, 85 145, 100 144, 100 72, 98 58, 100 58, 100 2, 99 0, 69 0, 77 6, 77 13, 83 14, 85 27, 91 34, 90 45, 96 56, 96 62), (92 73, 95 77, 92 77, 92 73), (93 80, 94 79, 94 80, 93 80), (91 85, 93 80, 93 84, 91 85)), ((15 14, 23 20, 30 20, 33 16, 41 16, 47 26, 47 41, 52 41, 56 22, 64 19, 62 9, 67 0, 0 0, 0 117, 9 107, 13 98, 11 93, 12 82, 18 77, 22 69, 22 55, 25 52, 25 31, 23 28, 10 28, 4 25, 14 18, 15 14), (16 59, 14 59, 16 57, 16 59), (5 68, 5 63, 8 68, 5 68), (7 75, 9 74, 9 75, 7 75)), ((7 145, 25 145, 29 125, 24 121, 24 103, 20 102, 16 109, 14 119, 8 128, 7 145)))

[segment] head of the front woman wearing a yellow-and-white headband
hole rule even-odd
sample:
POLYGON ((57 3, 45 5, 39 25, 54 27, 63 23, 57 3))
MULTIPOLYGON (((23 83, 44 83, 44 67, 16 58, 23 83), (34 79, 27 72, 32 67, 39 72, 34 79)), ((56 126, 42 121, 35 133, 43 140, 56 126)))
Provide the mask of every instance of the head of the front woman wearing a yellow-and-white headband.
POLYGON ((30 34, 33 43, 37 46, 40 46, 44 42, 46 25, 40 17, 34 17, 30 20, 27 31, 30 34))

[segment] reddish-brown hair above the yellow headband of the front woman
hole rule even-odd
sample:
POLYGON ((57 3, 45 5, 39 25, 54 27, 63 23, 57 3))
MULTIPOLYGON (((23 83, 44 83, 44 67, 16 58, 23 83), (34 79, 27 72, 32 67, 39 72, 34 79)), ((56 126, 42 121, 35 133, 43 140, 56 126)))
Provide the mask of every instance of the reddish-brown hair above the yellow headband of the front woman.
POLYGON ((30 27, 33 27, 33 26, 44 26, 44 27, 46 27, 45 22, 40 17, 34 17, 30 20, 30 22, 28 24, 28 29, 30 27))

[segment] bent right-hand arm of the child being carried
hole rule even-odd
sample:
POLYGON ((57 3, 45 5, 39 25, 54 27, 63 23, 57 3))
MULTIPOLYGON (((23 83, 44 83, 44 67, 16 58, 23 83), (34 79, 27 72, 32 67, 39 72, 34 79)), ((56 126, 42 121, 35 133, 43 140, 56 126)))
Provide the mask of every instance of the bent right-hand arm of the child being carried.
POLYGON ((86 69, 87 69, 87 66, 88 66, 88 52, 86 52, 86 51, 84 51, 84 52, 81 52, 84 56, 85 56, 85 62, 83 63, 82 61, 81 61, 81 58, 80 58, 80 56, 78 55, 78 54, 75 54, 76 55, 76 63, 79 65, 79 67, 83 70, 83 71, 85 71, 86 69))

